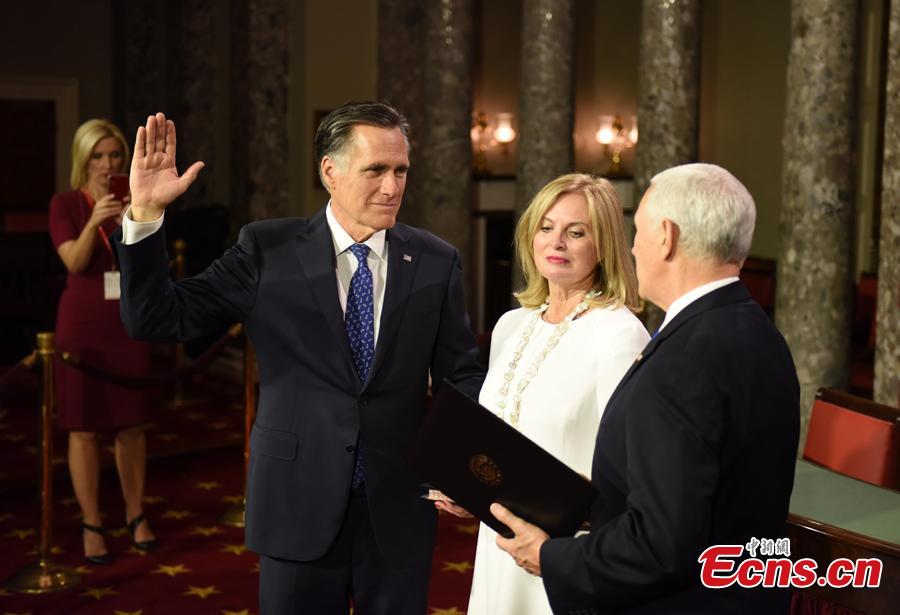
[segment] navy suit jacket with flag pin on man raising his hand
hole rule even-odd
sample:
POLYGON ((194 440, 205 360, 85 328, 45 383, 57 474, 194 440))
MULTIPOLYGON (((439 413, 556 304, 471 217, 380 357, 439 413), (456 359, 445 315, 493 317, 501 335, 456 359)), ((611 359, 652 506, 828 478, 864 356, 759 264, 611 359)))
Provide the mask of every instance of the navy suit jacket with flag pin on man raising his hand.
POLYGON ((186 340, 243 322, 259 364, 250 439, 246 541, 296 561, 325 554, 350 497, 354 446, 365 460, 376 540, 388 562, 430 553, 436 515, 408 463, 425 415, 429 371, 477 397, 458 251, 425 231, 387 231, 387 286, 375 358, 360 382, 344 328, 331 232, 311 219, 254 222, 210 267, 169 279, 162 231, 115 241, 122 319, 138 339, 186 340))

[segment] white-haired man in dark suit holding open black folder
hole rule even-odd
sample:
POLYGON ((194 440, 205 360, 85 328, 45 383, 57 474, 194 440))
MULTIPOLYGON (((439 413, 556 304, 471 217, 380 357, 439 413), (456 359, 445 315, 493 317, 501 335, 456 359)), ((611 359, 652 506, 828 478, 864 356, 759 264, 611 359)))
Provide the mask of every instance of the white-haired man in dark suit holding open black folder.
MULTIPOLYGON (((787 592, 706 589, 711 545, 784 536, 799 435, 788 347, 738 280, 756 209, 725 169, 653 178, 635 216, 641 296, 665 321, 597 434, 590 533, 548 540, 494 504, 498 539, 556 613, 786 613, 787 592)), ((610 340, 615 343, 615 340, 610 340)))

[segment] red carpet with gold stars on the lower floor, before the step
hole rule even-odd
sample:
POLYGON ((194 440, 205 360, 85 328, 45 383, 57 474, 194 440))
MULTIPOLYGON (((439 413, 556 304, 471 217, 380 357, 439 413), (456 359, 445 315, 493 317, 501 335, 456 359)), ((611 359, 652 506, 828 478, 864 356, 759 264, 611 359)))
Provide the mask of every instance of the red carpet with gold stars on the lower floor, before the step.
MULTIPOLYGON (((105 477, 105 523, 121 523, 115 476, 105 477)), ((257 556, 244 550, 242 530, 218 523, 239 496, 241 451, 231 447, 156 462, 148 485, 147 514, 161 548, 141 555, 124 531, 107 540, 109 566, 81 567, 78 509, 59 486, 53 544, 60 564, 86 572, 71 590, 40 596, 0 590, 0 613, 256 613, 257 556)), ((34 560, 37 506, 33 493, 4 498, 0 509, 0 578, 34 560)), ((465 613, 472 578, 476 525, 442 515, 433 562, 429 614, 465 613)))

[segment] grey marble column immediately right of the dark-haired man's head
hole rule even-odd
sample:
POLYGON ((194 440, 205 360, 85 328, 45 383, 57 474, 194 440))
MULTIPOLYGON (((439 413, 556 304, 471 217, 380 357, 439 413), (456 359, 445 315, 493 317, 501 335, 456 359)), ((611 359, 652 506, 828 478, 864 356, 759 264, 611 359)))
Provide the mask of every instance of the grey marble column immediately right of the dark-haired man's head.
POLYGON ((418 182, 419 225, 456 246, 466 272, 472 265, 472 4, 435 0, 425 6, 421 145, 410 171, 418 182))

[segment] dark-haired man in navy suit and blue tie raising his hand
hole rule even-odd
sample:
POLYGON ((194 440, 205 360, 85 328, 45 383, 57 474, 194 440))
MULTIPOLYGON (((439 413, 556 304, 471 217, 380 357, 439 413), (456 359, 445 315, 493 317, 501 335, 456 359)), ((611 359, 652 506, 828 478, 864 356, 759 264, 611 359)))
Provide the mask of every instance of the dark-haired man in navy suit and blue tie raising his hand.
POLYGON ((459 253, 395 224, 408 126, 380 103, 326 117, 316 154, 331 200, 310 219, 245 226, 200 275, 168 277, 165 207, 202 167, 175 168, 175 126, 138 129, 131 208, 116 242, 133 337, 189 339, 243 322, 259 361, 247 545, 263 613, 426 610, 434 506, 407 461, 428 379, 477 395, 459 253))

